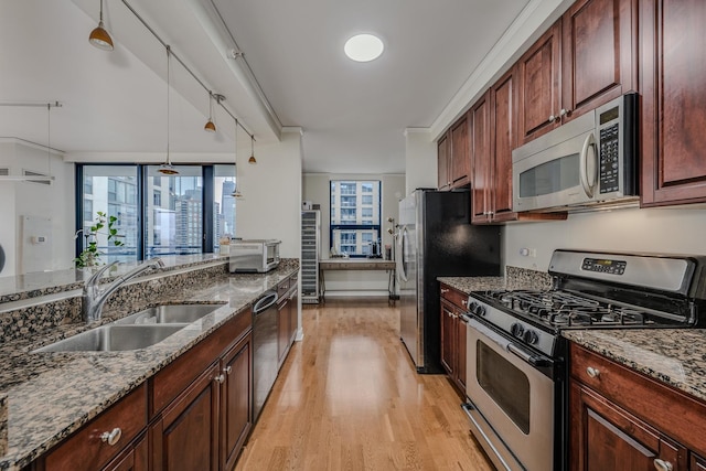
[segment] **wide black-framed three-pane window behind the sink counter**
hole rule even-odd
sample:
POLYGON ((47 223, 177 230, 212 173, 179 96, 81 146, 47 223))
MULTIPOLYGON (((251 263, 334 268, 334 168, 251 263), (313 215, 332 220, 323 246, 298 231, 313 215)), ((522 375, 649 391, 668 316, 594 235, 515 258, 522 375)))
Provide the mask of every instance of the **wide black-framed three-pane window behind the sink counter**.
MULTIPOLYGON (((162 175, 157 165, 77 165, 77 221, 89 233, 97 212, 115 216, 125 243, 111 247, 99 235, 98 248, 107 255, 101 261, 210 253, 221 237, 235 235, 235 165, 176 169, 176 175, 162 175)), ((86 246, 79 242, 77 255, 86 246)))

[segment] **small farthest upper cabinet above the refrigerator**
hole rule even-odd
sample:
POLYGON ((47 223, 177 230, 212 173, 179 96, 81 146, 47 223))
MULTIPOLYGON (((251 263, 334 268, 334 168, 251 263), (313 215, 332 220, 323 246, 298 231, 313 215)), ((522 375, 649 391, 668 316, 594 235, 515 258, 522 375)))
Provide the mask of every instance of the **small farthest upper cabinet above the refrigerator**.
POLYGON ((468 185, 470 168, 468 135, 468 118, 463 115, 437 142, 439 190, 468 185))

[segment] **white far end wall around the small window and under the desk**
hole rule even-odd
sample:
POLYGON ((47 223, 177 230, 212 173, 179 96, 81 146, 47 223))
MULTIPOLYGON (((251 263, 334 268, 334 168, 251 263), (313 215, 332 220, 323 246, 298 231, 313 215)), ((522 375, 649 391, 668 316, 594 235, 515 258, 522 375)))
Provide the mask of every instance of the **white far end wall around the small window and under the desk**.
MULTIPOLYGON (((392 224, 388 217, 398 218, 399 200, 405 196, 404 174, 341 174, 304 173, 302 199, 321 205, 321 258, 329 258, 331 223, 331 180, 379 180, 382 181, 382 239, 383 247, 393 245, 393 236, 387 233, 392 224)), ((387 292, 388 276, 385 271, 327 271, 327 296, 367 296, 387 292)))

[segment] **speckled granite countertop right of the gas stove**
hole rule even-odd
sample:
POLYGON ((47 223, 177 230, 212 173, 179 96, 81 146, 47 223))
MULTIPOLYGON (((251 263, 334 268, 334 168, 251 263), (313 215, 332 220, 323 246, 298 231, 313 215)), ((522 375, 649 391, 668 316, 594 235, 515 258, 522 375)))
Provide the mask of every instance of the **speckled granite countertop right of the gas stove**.
POLYGON ((566 339, 706 400, 706 330, 566 330, 566 339))

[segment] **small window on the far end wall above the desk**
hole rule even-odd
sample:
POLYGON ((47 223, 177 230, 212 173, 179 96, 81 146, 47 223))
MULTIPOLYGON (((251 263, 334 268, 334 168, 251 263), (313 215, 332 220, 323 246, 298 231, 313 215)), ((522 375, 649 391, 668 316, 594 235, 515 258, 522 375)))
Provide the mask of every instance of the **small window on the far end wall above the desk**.
POLYGON ((381 182, 331 181, 332 253, 365 257, 379 229, 381 182))

